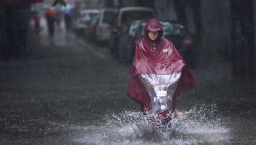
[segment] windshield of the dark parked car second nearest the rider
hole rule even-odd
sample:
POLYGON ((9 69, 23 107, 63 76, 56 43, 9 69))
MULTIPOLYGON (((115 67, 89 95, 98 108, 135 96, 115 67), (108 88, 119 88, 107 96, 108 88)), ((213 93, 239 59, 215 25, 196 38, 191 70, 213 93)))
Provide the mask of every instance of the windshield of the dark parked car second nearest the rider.
POLYGON ((125 11, 122 15, 121 23, 125 24, 132 20, 150 19, 153 18, 152 11, 125 11))

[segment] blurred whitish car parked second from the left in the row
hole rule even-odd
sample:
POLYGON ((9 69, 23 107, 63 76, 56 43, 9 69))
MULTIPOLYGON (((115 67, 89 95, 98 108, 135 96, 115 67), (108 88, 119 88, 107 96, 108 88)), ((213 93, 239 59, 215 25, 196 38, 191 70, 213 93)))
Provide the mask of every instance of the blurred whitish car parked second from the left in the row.
POLYGON ((113 20, 118 9, 102 9, 100 11, 99 23, 96 27, 96 40, 105 42, 110 40, 113 29, 113 20))

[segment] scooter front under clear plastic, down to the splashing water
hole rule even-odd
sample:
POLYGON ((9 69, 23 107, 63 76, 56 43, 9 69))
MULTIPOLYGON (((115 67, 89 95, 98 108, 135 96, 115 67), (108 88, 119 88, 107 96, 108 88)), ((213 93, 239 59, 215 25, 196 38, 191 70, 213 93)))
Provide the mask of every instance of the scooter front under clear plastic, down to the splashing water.
POLYGON ((172 112, 172 99, 177 88, 181 73, 170 75, 139 75, 140 82, 149 93, 151 102, 149 107, 149 118, 152 125, 167 125, 174 114, 172 112))

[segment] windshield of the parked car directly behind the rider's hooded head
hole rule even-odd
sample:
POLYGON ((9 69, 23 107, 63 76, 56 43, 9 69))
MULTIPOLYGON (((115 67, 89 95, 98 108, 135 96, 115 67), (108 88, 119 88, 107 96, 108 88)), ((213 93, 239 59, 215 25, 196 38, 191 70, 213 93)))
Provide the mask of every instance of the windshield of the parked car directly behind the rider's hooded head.
MULTIPOLYGON (((184 35, 185 29, 184 26, 178 23, 170 23, 169 21, 163 22, 159 21, 161 26, 163 27, 163 35, 184 35)), ((144 35, 144 28, 146 26, 146 23, 141 23, 139 26, 139 34, 144 35)))

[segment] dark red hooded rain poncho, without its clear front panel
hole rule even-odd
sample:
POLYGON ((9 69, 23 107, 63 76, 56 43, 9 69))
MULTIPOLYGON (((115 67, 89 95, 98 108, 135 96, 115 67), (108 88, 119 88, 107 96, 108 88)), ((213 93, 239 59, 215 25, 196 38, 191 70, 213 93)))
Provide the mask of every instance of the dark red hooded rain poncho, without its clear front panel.
POLYGON ((136 46, 127 96, 149 109, 151 99, 138 75, 173 73, 182 73, 182 75, 174 92, 172 111, 176 110, 177 96, 195 86, 196 80, 172 42, 163 37, 160 23, 156 19, 151 19, 145 26, 144 38, 136 46), (159 31, 158 38, 152 41, 147 36, 149 31, 159 31))

